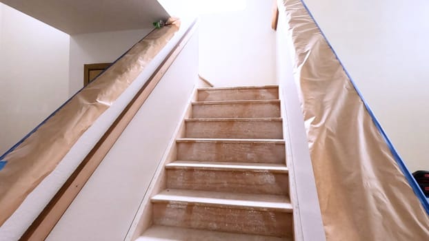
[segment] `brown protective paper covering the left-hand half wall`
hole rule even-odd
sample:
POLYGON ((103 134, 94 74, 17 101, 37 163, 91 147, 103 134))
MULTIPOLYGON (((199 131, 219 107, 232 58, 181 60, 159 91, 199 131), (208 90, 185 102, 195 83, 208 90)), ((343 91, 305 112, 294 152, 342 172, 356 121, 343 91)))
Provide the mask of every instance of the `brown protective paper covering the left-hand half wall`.
POLYGON ((8 163, 0 171, 0 226, 172 39, 180 21, 168 23, 134 45, 4 158, 8 163))

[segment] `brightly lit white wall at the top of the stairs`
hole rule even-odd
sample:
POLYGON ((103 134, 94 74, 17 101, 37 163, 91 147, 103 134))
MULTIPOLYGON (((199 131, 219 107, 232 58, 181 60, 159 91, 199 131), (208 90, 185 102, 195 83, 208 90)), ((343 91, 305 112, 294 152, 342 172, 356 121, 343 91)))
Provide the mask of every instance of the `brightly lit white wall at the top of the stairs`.
POLYGON ((201 75, 215 86, 275 84, 271 17, 267 0, 247 0, 245 10, 201 14, 201 75))

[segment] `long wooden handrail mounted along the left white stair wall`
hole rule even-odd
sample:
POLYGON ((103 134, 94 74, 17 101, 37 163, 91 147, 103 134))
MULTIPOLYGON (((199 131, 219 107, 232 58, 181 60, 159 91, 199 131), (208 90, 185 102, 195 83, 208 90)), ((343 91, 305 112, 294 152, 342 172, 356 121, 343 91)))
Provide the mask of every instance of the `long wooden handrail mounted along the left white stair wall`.
POLYGON ((161 81, 162 76, 166 73, 170 65, 172 65, 181 50, 183 50, 186 43, 188 43, 195 28, 196 21, 190 25, 177 45, 175 45, 168 56, 166 56, 166 59, 157 67, 157 70, 155 70, 139 92, 132 98, 132 101, 130 101, 123 112, 121 112, 106 134, 104 134, 99 142, 92 148, 81 165, 77 167, 72 176, 70 176, 61 189, 59 189, 54 198, 52 198, 45 209, 43 209, 36 220, 34 220, 20 240, 44 240, 48 237, 50 231, 52 231, 63 213, 68 209, 69 205, 79 191, 81 191, 95 169, 97 169, 106 154, 108 154, 110 148, 116 143, 123 130, 126 129, 134 115, 139 111, 141 105, 145 103, 152 90, 154 90, 154 87, 161 81))

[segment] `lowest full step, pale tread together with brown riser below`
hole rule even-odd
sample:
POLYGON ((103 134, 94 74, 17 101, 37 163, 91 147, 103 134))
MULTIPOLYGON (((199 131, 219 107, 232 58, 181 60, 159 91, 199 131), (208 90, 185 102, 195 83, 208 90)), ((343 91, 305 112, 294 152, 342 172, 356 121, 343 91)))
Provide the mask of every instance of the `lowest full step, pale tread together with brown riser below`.
POLYGON ((292 229, 290 201, 281 196, 165 190, 152 205, 157 225, 275 236, 292 229))

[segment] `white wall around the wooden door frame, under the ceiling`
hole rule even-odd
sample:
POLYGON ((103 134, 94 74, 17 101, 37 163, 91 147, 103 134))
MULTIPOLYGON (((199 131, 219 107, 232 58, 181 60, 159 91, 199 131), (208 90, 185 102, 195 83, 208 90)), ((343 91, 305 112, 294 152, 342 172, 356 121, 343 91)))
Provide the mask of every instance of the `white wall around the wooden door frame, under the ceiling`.
POLYGON ((152 29, 76 34, 70 39, 70 96, 83 87, 83 65, 112 63, 152 29))

